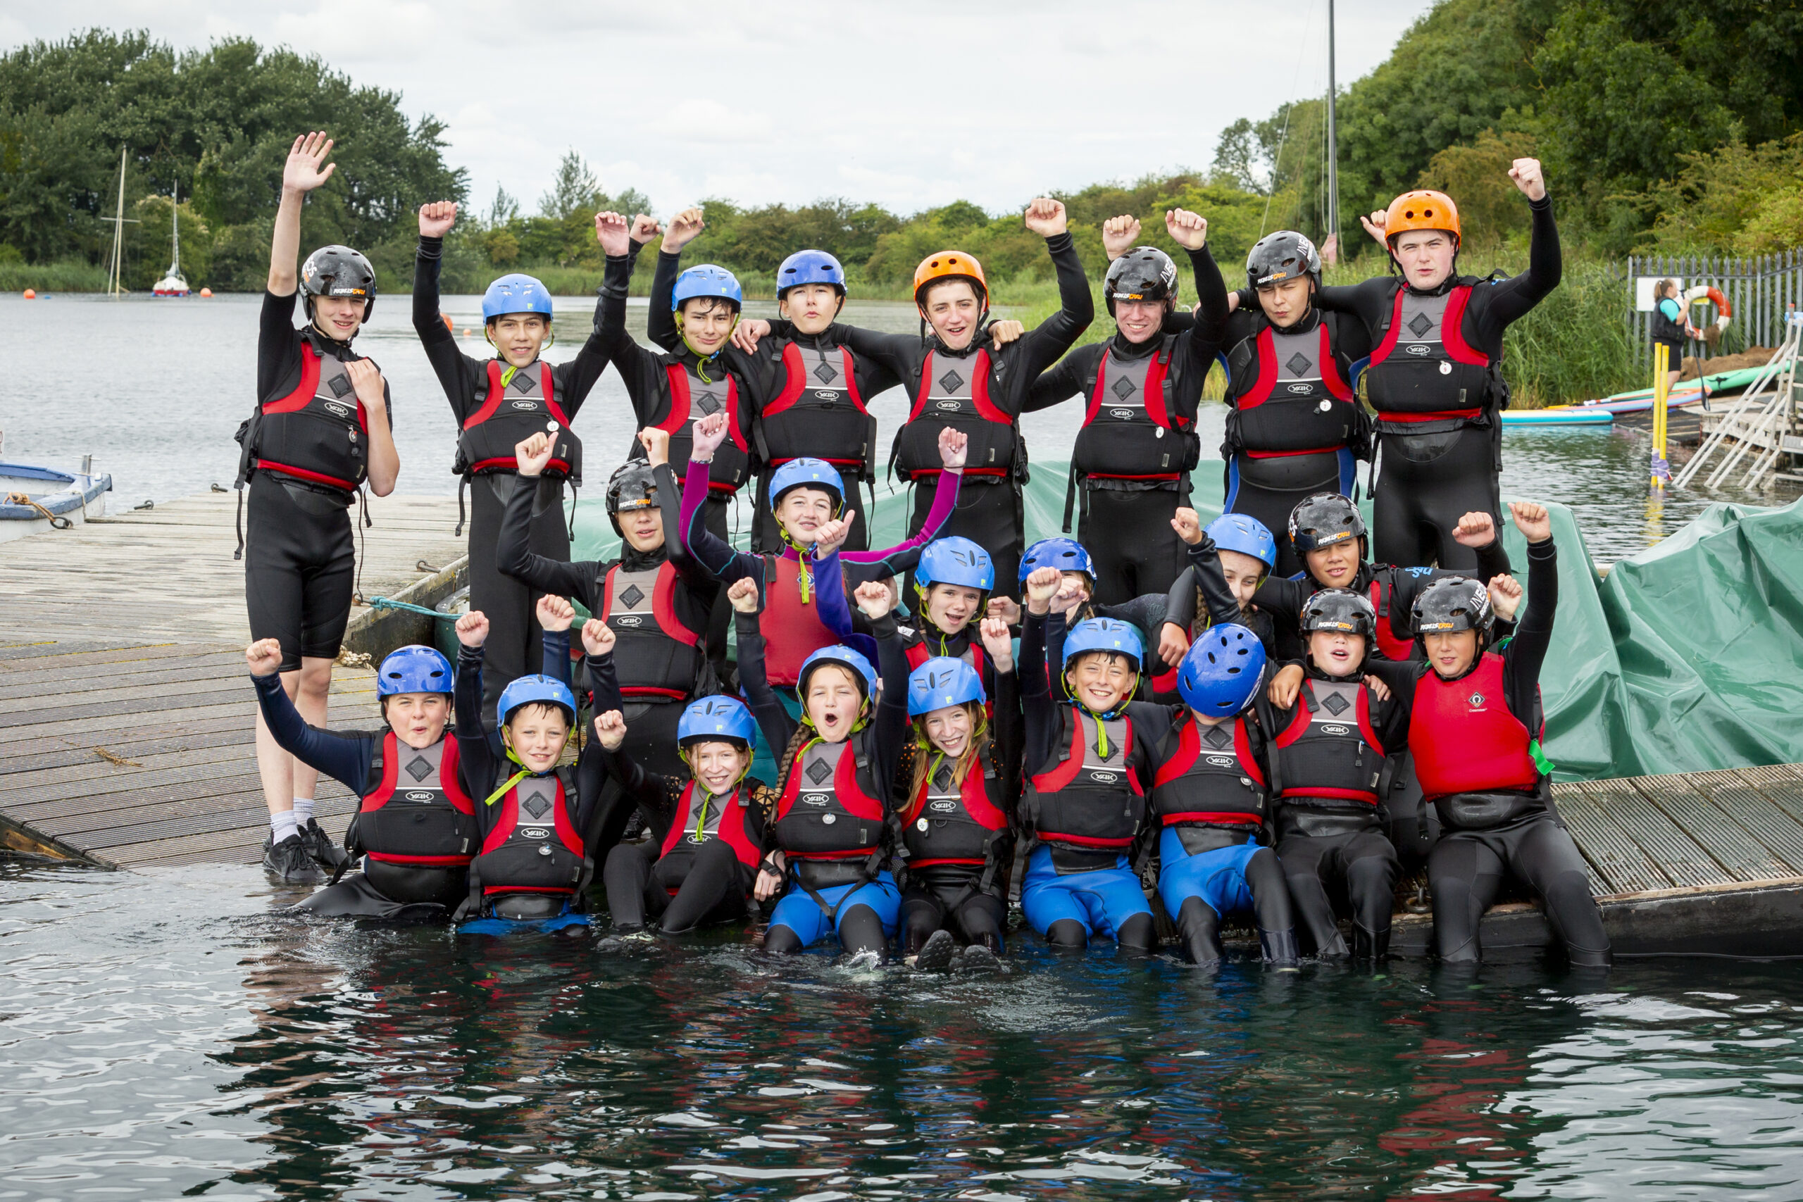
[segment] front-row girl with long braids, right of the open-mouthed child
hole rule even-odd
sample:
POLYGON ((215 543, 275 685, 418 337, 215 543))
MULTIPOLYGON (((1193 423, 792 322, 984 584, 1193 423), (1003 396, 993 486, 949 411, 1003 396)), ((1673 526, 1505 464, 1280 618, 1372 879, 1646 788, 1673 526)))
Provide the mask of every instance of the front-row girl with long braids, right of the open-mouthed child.
MULTIPOLYGON (((907 797, 902 955, 921 970, 945 968, 959 941, 999 955, 1008 926, 1013 807, 1020 795, 1020 696, 1013 638, 1001 618, 984 618, 983 647, 995 672, 993 696, 963 660, 934 656, 909 674, 912 755, 896 782, 907 797)), ((900 643, 883 640, 878 651, 892 656, 900 643)), ((883 661, 885 678, 898 669, 883 661)))

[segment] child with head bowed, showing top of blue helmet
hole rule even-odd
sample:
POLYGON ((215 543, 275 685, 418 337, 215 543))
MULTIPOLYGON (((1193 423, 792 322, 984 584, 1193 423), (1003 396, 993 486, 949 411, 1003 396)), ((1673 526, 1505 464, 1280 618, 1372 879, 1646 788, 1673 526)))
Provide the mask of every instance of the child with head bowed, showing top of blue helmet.
POLYGON ((1264 667, 1264 643, 1246 627, 1204 631, 1177 669, 1183 706, 1158 746, 1158 896, 1192 964, 1219 964, 1221 921, 1244 912, 1266 961, 1296 959, 1289 887, 1262 840, 1273 784, 1264 667))

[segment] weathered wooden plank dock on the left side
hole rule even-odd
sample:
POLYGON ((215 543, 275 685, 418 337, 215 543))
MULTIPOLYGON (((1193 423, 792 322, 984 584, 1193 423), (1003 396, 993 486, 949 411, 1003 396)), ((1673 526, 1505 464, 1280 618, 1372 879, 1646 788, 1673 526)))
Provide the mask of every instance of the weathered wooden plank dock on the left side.
MULTIPOLYGON (((105 867, 261 856, 269 815, 252 751, 234 503, 182 497, 0 544, 7 847, 105 867)), ((364 596, 454 575, 463 555, 454 497, 371 497, 370 517, 364 596)), ((353 633, 377 620, 352 611, 353 633)), ((377 721, 371 670, 334 674, 330 721, 377 721)), ((321 780, 317 800, 341 836, 352 797, 321 780)))

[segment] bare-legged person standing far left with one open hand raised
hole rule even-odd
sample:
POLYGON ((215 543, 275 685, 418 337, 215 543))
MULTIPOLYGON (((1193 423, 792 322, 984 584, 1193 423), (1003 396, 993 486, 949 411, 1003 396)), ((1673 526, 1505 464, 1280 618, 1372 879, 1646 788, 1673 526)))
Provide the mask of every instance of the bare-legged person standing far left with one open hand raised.
MULTIPOLYGON (((364 483, 395 490, 400 456, 389 431, 393 404, 375 362, 350 344, 375 306, 375 269, 350 247, 321 247, 301 267, 307 326, 294 328, 294 260, 301 204, 332 178, 332 139, 294 139, 281 169, 281 207, 269 249, 269 290, 256 337, 256 396, 238 429, 240 537, 251 638, 281 645, 281 688, 301 717, 326 721, 326 692, 350 622, 357 548, 350 505, 364 483), (249 481, 249 499, 243 487, 249 481)), ((325 879, 319 865, 344 861, 314 822, 317 773, 283 751, 256 719, 256 766, 269 804, 263 869, 288 885, 325 879)))

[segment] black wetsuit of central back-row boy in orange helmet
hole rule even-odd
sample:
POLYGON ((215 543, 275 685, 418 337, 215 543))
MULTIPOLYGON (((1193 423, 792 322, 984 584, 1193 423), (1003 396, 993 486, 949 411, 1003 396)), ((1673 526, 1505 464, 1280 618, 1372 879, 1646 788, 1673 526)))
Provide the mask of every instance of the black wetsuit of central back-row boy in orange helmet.
MULTIPOLYGON (((1020 496, 1020 481, 1026 476, 1022 405, 1040 373, 1071 350, 1096 315, 1089 279, 1084 276, 1084 263, 1071 236, 1055 234, 1046 240, 1046 249, 1058 272, 1060 308, 1008 346, 997 348, 990 342, 988 328, 961 351, 945 348, 930 333, 927 337, 876 333, 846 324, 833 324, 828 330, 833 342, 849 346, 860 359, 880 364, 909 389, 911 420, 896 431, 892 463, 898 463, 912 483, 930 483, 939 476, 938 451, 930 456, 927 451, 938 440, 939 429, 950 423, 970 433, 972 454, 965 465, 965 487, 957 497, 957 510, 939 535, 963 535, 986 550, 995 560, 997 587, 1010 595, 1019 591, 1015 575, 1020 553, 1026 550, 1020 496), (932 373, 930 378, 923 378, 929 359, 932 373), (979 389, 983 404, 975 402, 979 389)), ((920 532, 930 510, 932 490, 914 488, 911 535, 920 532)))

